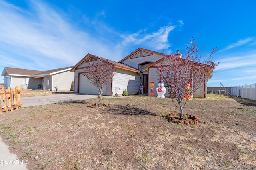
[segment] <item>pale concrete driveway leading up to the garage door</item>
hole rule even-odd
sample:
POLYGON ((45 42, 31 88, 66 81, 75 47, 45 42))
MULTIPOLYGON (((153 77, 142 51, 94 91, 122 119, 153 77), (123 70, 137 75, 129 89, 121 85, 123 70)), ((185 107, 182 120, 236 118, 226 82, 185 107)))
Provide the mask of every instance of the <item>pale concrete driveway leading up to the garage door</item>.
POLYGON ((52 104, 52 103, 58 103, 58 102, 70 102, 74 100, 84 100, 84 99, 97 98, 97 97, 98 95, 78 94, 78 93, 24 97, 24 98, 21 98, 21 103, 22 103, 21 107, 52 104))

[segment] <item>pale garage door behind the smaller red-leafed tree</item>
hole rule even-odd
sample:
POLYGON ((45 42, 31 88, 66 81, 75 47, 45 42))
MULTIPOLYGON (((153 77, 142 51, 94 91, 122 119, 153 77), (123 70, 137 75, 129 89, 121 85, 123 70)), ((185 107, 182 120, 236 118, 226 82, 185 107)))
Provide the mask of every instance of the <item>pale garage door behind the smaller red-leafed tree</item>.
MULTIPOLYGON (((89 80, 83 75, 79 75, 79 93, 83 94, 99 94, 96 87, 92 86, 89 80)), ((106 88, 103 89, 103 95, 106 95, 106 88)))

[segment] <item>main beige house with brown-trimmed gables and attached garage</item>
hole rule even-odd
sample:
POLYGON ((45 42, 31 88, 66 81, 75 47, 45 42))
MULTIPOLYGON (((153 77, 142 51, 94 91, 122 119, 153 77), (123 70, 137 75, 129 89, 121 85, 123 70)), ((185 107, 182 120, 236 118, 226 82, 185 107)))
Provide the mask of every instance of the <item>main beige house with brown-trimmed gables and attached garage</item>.
MULTIPOLYGON (((181 54, 176 54, 181 55, 181 54)), ((150 81, 154 81, 155 88, 158 85, 158 77, 156 74, 156 63, 163 60, 164 54, 148 49, 138 48, 119 62, 107 60, 116 67, 116 74, 112 82, 104 89, 103 95, 113 95, 117 93, 122 95, 126 89, 128 94, 136 94, 140 88, 140 83, 144 86, 144 93, 148 93, 150 81)), ((74 92, 84 94, 98 94, 96 87, 86 80, 84 67, 88 66, 88 62, 95 61, 101 57, 87 54, 80 60, 70 71, 75 73, 74 92)), ((209 77, 208 77, 209 78, 209 77)), ((194 97, 206 96, 206 82, 202 82, 202 88, 194 93, 194 97)), ((166 94, 167 95, 167 94, 166 94)), ((157 96, 155 92, 154 96, 157 96)))

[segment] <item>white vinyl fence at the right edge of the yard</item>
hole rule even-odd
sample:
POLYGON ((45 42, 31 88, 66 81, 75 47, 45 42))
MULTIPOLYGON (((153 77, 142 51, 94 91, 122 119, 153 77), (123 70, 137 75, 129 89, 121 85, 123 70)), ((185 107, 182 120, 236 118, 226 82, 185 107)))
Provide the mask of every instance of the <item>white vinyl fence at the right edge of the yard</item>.
POLYGON ((256 83, 231 87, 231 95, 256 100, 256 83))

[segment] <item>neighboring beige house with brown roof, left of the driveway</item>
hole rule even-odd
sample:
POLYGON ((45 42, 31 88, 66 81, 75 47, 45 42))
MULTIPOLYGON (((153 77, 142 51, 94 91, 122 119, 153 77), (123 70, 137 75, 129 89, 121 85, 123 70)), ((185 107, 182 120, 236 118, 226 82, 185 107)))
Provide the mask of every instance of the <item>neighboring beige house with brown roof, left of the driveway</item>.
POLYGON ((45 89, 55 91, 71 90, 74 73, 72 67, 57 68, 48 71, 27 70, 4 67, 1 76, 4 76, 4 87, 18 86, 21 89, 45 89))

